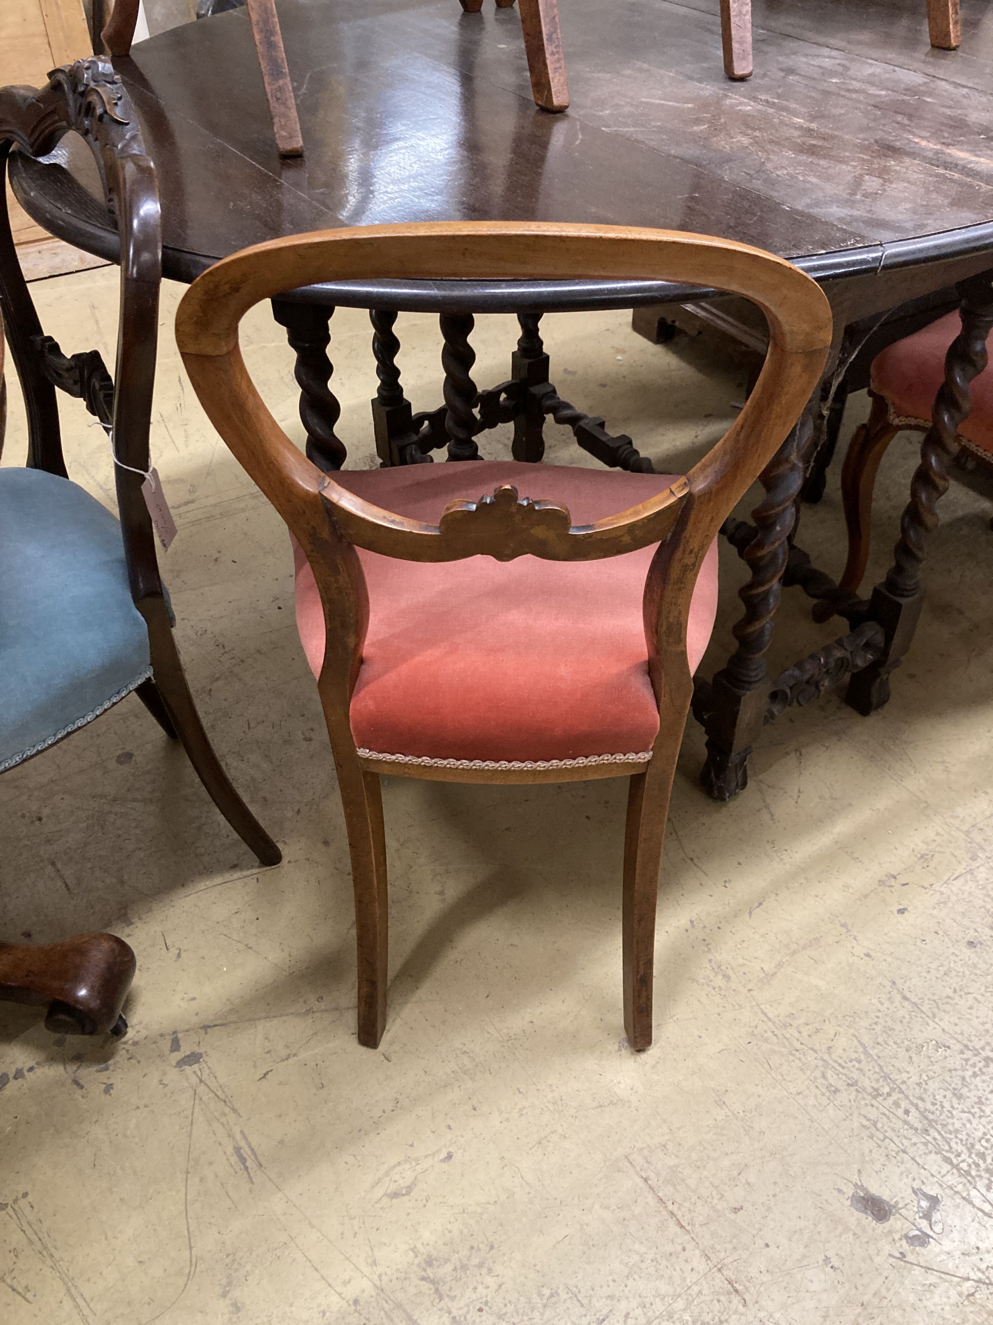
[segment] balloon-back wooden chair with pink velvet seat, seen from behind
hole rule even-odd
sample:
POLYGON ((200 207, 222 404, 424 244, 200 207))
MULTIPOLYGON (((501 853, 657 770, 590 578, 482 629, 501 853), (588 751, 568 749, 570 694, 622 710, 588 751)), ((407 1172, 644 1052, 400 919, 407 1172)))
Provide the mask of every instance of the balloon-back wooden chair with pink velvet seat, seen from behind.
POLYGON ((387 1011, 381 774, 629 776, 625 1027, 636 1049, 651 1043, 659 864, 716 606, 716 533, 806 404, 830 334, 820 288, 777 257, 613 227, 327 231, 236 253, 185 293, 176 339, 193 387, 297 543, 298 627, 347 823, 363 1044, 379 1044, 387 1011), (327 474, 265 407, 238 323, 299 286, 381 277, 716 286, 763 309, 769 350, 744 409, 685 478, 487 461, 327 474))

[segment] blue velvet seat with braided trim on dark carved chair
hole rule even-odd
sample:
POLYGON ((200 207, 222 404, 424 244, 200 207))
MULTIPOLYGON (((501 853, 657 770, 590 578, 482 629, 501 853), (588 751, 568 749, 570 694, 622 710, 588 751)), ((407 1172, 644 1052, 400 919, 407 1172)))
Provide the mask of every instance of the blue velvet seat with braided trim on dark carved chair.
POLYGON ((0 469, 0 772, 150 676, 115 517, 66 478, 0 469))

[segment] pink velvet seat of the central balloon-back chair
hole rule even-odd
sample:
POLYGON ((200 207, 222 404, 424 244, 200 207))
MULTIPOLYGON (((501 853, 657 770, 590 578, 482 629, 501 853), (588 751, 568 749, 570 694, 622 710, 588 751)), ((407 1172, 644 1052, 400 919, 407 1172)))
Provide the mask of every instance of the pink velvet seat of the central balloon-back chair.
MULTIPOLYGON (((387 510, 437 523, 448 502, 502 482, 589 523, 645 501, 673 476, 504 461, 346 472, 339 482, 387 510)), ((351 721, 359 749, 433 759, 560 761, 642 754, 658 731, 641 599, 654 549, 598 562, 424 564, 360 553, 369 629, 351 721)), ((324 620, 299 547, 297 624, 316 676, 324 620)), ((692 599, 696 669, 718 602, 718 550, 692 599)))

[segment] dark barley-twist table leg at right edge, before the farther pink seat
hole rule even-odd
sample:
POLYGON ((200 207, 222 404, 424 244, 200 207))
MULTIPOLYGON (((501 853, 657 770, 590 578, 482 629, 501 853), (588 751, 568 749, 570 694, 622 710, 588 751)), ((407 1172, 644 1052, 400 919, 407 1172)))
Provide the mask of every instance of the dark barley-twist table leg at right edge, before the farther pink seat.
POLYGON ((937 504, 948 490, 948 461, 959 450, 959 431, 972 411, 969 383, 986 367, 986 337, 993 329, 993 273, 963 281, 963 329, 945 355, 945 380, 935 396, 931 429, 920 445, 920 464, 900 517, 894 563, 873 590, 870 615, 883 627, 879 659, 849 681, 846 702, 869 716, 890 698, 890 673, 900 665, 924 606, 924 539, 937 525, 937 504))

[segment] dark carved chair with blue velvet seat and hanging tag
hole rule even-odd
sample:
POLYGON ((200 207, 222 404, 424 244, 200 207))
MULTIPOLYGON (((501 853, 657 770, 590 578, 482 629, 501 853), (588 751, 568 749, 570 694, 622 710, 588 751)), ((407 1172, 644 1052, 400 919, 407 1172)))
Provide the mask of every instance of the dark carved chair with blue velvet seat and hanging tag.
POLYGON ((189 693, 143 496, 162 281, 159 195, 138 118, 102 60, 46 87, 0 91, 0 310, 28 415, 26 468, 0 468, 0 772, 132 692, 179 738, 214 804, 258 856, 279 851, 221 767, 189 693), (120 237, 117 390, 97 351, 42 333, 17 261, 4 182, 12 148, 48 154, 69 131, 93 151, 120 237), (56 388, 81 398, 114 453, 119 519, 70 482, 56 388))

